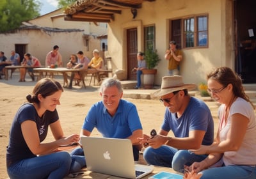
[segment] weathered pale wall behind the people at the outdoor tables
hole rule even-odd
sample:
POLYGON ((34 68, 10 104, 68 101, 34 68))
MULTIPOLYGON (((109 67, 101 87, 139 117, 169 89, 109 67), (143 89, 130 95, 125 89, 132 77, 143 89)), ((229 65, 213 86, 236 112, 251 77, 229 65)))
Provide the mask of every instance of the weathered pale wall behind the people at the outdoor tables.
MULTIPOLYGON (((26 52, 30 53, 32 56, 40 59, 42 65, 45 65, 45 56, 47 52, 52 50, 54 45, 60 47, 59 51, 63 58, 63 66, 68 62, 70 54, 76 54, 77 51, 83 51, 88 58, 92 58, 93 49, 100 47, 100 40, 97 38, 89 38, 89 51, 85 47, 81 37, 83 31, 80 32, 63 32, 54 33, 40 30, 23 30, 17 33, 1 34, 0 38, 2 42, 0 49, 4 51, 4 55, 10 58, 10 52, 14 49, 15 44, 26 45, 26 52)), ((21 57, 20 57, 21 58, 21 57)))

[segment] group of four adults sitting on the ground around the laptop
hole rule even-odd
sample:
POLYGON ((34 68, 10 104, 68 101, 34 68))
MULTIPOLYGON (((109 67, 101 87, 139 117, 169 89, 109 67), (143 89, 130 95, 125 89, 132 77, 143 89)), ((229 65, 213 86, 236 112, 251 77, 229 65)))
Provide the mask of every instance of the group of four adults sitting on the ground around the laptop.
MULTIPOLYGON (((148 164, 172 167, 185 173, 184 178, 256 178, 254 106, 240 77, 220 67, 207 74, 207 85, 211 97, 221 104, 215 139, 209 107, 189 95, 196 85, 184 84, 179 75, 163 77, 161 89, 154 93, 166 107, 156 136, 143 135, 136 106, 122 99, 122 84, 113 78, 102 82, 102 100, 86 114, 80 135, 90 136, 97 128, 103 137, 130 139, 135 161, 144 146, 148 164), (173 137, 168 136, 170 130, 173 137)), ((63 178, 86 167, 80 146, 71 153, 58 152, 60 145, 80 140, 79 134, 66 137, 61 129, 56 105, 60 105, 62 92, 58 81, 41 79, 27 96, 28 103, 18 110, 6 154, 10 178, 63 178), (48 127, 56 141, 42 143, 48 127)))

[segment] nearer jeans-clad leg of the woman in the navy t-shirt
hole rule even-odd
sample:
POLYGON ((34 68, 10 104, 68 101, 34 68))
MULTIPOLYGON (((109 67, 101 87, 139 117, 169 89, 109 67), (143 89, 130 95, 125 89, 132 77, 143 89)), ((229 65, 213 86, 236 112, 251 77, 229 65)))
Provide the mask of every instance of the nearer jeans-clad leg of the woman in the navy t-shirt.
POLYGON ((57 152, 24 159, 7 168, 10 178, 64 178, 69 173, 71 157, 68 152, 57 152))

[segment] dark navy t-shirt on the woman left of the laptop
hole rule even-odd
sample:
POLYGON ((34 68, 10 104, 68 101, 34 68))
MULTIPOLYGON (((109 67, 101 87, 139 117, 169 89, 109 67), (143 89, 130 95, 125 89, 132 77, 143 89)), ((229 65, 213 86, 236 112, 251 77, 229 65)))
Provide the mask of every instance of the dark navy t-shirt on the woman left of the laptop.
POLYGON ((45 111, 42 118, 40 118, 32 104, 23 104, 17 111, 10 129, 10 140, 6 153, 7 166, 10 166, 10 164, 19 162, 23 159, 36 157, 36 155, 29 150, 28 145, 26 144, 26 141, 22 135, 22 122, 26 120, 35 121, 41 143, 47 136, 49 125, 58 119, 59 116, 56 109, 53 112, 45 111))

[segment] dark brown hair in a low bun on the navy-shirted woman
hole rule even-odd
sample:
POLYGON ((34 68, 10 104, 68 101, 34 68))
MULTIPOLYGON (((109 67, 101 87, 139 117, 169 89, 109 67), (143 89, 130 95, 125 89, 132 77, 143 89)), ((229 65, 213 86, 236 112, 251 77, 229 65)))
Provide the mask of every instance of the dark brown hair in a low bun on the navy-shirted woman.
POLYGON ((63 88, 60 82, 51 78, 44 78, 36 82, 36 85, 33 89, 32 94, 28 95, 26 98, 30 103, 39 104, 40 103, 40 101, 38 100, 39 94, 42 95, 43 98, 45 98, 60 90, 63 91, 63 88))

